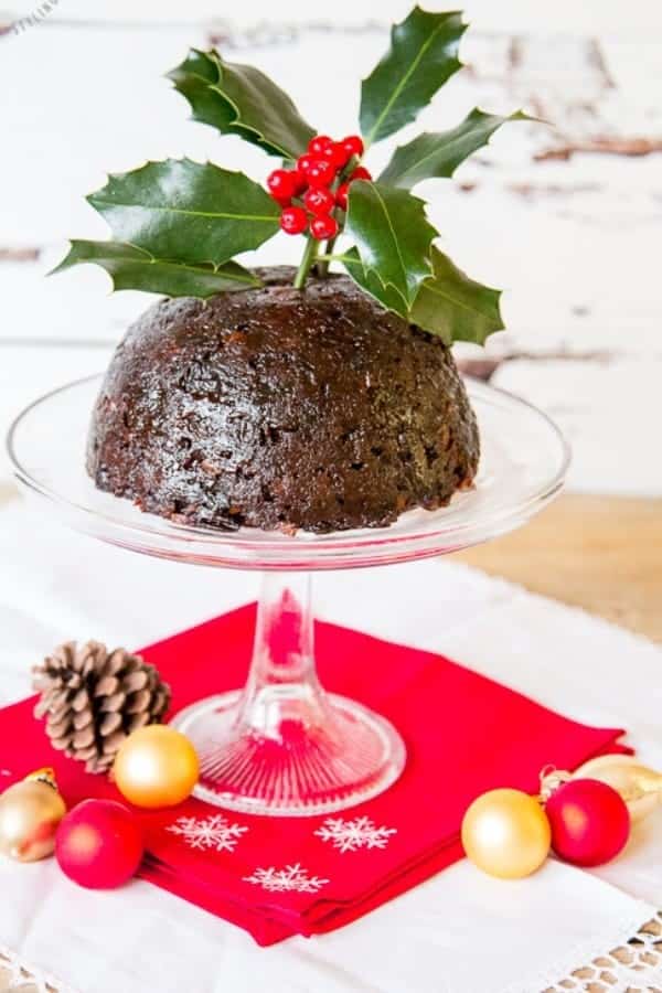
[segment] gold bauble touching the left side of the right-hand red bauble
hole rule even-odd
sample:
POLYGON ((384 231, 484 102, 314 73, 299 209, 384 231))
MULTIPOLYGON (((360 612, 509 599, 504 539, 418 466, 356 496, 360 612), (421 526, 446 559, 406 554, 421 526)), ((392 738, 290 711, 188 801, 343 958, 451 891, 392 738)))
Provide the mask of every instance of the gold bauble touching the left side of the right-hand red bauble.
POLYGON ((491 790, 473 801, 462 820, 462 845, 483 873, 521 879, 549 853, 549 822, 535 797, 521 790, 491 790))

